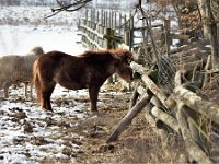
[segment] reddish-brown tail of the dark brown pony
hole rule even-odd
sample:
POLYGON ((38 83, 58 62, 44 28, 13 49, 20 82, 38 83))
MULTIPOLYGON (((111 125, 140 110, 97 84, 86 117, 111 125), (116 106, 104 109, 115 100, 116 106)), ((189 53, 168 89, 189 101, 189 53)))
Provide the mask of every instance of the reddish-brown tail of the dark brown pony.
POLYGON ((37 103, 41 104, 41 102, 42 102, 41 79, 39 79, 39 74, 38 74, 37 69, 38 69, 38 60, 36 59, 34 65, 33 65, 33 84, 35 86, 37 103))

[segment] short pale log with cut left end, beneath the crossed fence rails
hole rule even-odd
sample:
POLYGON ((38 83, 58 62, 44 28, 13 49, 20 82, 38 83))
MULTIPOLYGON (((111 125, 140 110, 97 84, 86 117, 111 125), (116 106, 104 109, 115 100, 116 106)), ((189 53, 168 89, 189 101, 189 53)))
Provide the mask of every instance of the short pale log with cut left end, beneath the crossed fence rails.
POLYGON ((180 133, 177 120, 173 116, 169 115, 168 113, 164 113, 155 106, 151 109, 151 114, 158 119, 160 119, 162 122, 168 125, 171 129, 180 133))

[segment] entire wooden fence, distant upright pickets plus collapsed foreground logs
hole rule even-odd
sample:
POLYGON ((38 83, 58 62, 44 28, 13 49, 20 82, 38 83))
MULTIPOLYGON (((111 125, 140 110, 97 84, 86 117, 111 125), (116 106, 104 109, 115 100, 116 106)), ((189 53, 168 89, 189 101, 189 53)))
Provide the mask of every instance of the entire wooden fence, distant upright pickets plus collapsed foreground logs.
MULTIPOLYGON (((93 14, 95 12, 91 12, 91 19, 89 19, 89 12, 87 11, 85 19, 82 19, 80 23, 82 44, 92 49, 116 48, 123 43, 126 44, 127 48, 132 49, 135 45, 135 31, 146 31, 148 28, 147 26, 135 28, 132 25, 132 17, 127 21, 126 16, 122 16, 122 14, 113 12, 107 14, 103 11, 97 12, 97 16, 94 16, 93 14), (110 20, 107 20, 107 17, 110 17, 110 20), (116 17, 119 20, 118 23, 115 21, 116 17), (100 22, 102 24, 100 24, 100 22), (110 27, 107 26, 108 24, 110 27), (126 26, 125 24, 128 25, 126 26), (123 28, 116 30, 117 26, 123 26, 123 28)), ((165 25, 152 27, 161 27, 163 30, 165 26, 169 26, 166 23, 170 23, 170 21, 165 21, 165 25)), ((164 32, 164 34, 166 51, 169 52, 170 45, 166 38, 171 38, 173 34, 169 32, 164 32)), ((178 37, 178 35, 176 37, 178 37)), ((185 38, 187 38, 187 36, 185 36, 185 38)), ((158 60, 162 60, 162 58, 159 57, 158 60)), ((210 58, 208 58, 205 68, 199 71, 206 73, 197 72, 197 65, 199 61, 186 68, 186 72, 192 72, 193 81, 195 79, 194 74, 201 74, 203 87, 208 77, 209 60, 210 58)), ((130 102, 130 109, 118 122, 106 142, 115 141, 131 120, 146 108, 145 116, 148 122, 157 128, 155 132, 161 136, 161 139, 166 140, 169 133, 169 130, 166 130, 168 126, 169 129, 172 129, 172 131, 183 138, 189 159, 198 163, 212 163, 214 160, 211 159, 212 156, 210 156, 211 144, 208 129, 209 122, 219 124, 219 106, 203 99, 194 92, 196 89, 201 89, 201 86, 194 87, 193 84, 183 81, 185 75, 185 70, 183 69, 178 69, 172 73, 169 72, 170 77, 173 79, 173 86, 172 91, 166 93, 163 87, 165 84, 161 84, 158 80, 160 71, 155 69, 158 67, 153 67, 152 69, 151 67, 141 66, 134 61, 131 62, 131 68, 140 78, 138 82, 136 82, 130 102), (204 121, 204 118, 207 121, 204 121)), ((165 66, 163 70, 165 70, 165 66)), ((169 80, 170 79, 168 79, 168 82, 169 80)))

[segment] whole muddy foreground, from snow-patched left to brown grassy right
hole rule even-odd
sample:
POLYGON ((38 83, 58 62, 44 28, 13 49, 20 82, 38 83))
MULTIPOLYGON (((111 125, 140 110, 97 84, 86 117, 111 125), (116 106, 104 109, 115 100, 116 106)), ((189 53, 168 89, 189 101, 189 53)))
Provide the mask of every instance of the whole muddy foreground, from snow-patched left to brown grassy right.
POLYGON ((55 94, 54 113, 46 113, 35 99, 26 99, 21 90, 14 87, 9 99, 1 99, 0 163, 185 162, 181 138, 173 134, 164 149, 147 124, 145 112, 117 141, 105 143, 127 114, 131 92, 101 90, 100 115, 92 116, 87 91, 70 94, 64 90, 62 94, 55 94))

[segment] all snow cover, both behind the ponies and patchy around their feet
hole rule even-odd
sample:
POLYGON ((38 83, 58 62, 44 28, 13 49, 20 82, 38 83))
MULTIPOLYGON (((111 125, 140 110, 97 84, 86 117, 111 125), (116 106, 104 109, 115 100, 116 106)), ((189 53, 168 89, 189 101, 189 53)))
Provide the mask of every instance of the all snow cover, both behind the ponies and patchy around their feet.
MULTIPOLYGON (((1 8, 0 56, 25 55, 34 46, 71 55, 85 50, 76 44, 80 40, 76 20, 60 14, 51 19, 54 25, 49 21, 36 25, 36 21, 31 20, 43 22, 44 12, 49 12, 48 8, 36 9, 1 8), (57 25, 59 20, 66 24, 57 25)), ((3 97, 2 91, 0 97, 3 97)), ((46 113, 35 99, 24 97, 22 85, 10 87, 10 97, 0 99, 0 163, 73 163, 73 157, 82 151, 81 137, 69 128, 77 125, 79 118, 89 116, 88 92, 68 91, 58 85, 51 102, 54 113, 46 113)))

